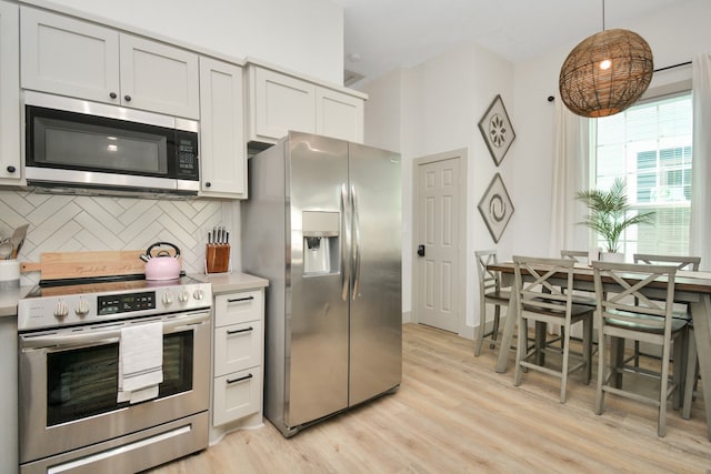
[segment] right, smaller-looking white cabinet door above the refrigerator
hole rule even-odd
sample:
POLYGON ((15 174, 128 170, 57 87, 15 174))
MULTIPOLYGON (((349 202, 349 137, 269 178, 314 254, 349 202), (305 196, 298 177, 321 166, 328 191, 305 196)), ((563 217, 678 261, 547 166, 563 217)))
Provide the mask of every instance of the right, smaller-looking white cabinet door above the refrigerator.
POLYGON ((316 88, 316 132, 363 142, 363 99, 322 87, 316 88))

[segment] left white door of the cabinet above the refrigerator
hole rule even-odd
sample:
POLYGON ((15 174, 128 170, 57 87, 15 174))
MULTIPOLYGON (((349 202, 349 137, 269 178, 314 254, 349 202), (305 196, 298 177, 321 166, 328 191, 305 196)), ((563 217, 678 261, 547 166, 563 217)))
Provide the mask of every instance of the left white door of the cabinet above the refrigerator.
POLYGON ((316 87, 268 69, 250 77, 250 140, 274 143, 290 130, 316 132, 316 87))

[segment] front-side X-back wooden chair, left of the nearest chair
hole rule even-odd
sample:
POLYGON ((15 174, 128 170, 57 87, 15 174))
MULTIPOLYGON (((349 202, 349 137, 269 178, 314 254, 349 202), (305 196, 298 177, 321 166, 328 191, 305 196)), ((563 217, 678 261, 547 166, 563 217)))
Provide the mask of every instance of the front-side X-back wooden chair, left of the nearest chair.
POLYGON ((573 288, 573 266, 571 259, 544 259, 535 256, 513 256, 514 291, 517 291, 517 314, 519 336, 515 353, 514 385, 521 384, 524 370, 534 370, 560 379, 560 403, 565 403, 568 374, 582 369, 583 381, 590 383, 592 354, 592 315, 594 309, 589 305, 574 304, 571 291, 573 288), (549 351, 544 347, 529 349, 524 341, 530 321, 543 324, 558 324, 562 327, 561 351, 549 351), (570 330, 573 324, 583 323, 582 354, 570 350, 570 330), (561 354, 560 369, 552 365, 540 365, 534 357, 538 351, 561 354), (570 364, 570 359, 577 363, 570 364))

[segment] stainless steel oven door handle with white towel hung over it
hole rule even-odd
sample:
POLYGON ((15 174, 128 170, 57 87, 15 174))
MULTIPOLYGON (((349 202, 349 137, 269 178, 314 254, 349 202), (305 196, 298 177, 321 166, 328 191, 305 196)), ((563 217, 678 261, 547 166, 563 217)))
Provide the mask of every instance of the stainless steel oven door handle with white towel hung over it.
MULTIPOLYGON (((188 329, 190 325, 201 324, 210 319, 210 312, 206 311, 199 314, 191 314, 190 316, 180 316, 174 319, 163 320, 163 334, 170 334, 182 329, 188 329)), ((147 320, 146 323, 154 322, 156 320, 147 320)), ((124 324, 121 327, 126 326, 124 324)), ((111 342, 118 342, 121 336, 121 327, 116 329, 116 325, 111 330, 97 330, 91 332, 70 333, 70 334, 46 334, 46 335, 23 335, 20 343, 21 349, 40 349, 51 346, 71 346, 82 345, 87 343, 103 342, 104 344, 111 342)))

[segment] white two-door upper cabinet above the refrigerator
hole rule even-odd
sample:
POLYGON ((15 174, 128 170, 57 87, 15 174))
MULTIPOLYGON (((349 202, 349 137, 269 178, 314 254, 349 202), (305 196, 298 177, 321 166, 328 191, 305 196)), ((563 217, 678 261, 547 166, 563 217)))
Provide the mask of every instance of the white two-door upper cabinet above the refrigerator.
POLYGON ((290 130, 362 142, 364 100, 249 65, 248 141, 276 143, 290 130))

